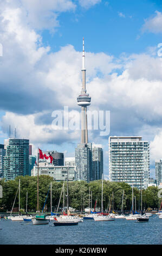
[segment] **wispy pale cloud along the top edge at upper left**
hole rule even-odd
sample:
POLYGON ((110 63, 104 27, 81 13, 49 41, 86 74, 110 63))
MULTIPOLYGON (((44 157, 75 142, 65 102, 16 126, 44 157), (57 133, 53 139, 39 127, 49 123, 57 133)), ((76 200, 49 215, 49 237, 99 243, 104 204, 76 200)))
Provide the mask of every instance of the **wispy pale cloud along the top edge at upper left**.
POLYGON ((71 0, 8 0, 0 8, 21 9, 22 22, 34 29, 50 29, 54 31, 59 26, 59 14, 65 11, 74 11, 76 5, 71 0))

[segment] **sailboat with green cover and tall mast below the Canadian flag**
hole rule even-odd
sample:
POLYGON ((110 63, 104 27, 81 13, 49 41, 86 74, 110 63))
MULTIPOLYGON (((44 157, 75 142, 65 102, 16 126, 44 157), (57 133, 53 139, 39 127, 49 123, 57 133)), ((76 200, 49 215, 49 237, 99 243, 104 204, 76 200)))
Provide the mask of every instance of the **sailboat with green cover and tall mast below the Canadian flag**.
MULTIPOLYGON (((37 212, 40 212, 39 208, 39 152, 42 154, 42 151, 38 149, 38 168, 37 168, 37 212)), ((47 215, 45 214, 37 214, 33 218, 33 224, 48 224, 49 220, 46 220, 47 215)))

